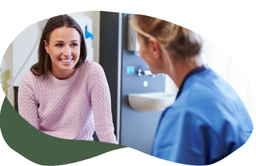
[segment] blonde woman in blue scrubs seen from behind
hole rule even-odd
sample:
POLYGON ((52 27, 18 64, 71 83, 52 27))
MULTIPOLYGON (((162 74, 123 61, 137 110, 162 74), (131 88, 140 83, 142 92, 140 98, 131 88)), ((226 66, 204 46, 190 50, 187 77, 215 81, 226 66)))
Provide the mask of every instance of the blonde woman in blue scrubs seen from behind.
POLYGON ((253 165, 253 124, 234 89, 203 64, 199 36, 147 15, 130 22, 153 74, 179 88, 160 120, 151 157, 159 165, 253 165))

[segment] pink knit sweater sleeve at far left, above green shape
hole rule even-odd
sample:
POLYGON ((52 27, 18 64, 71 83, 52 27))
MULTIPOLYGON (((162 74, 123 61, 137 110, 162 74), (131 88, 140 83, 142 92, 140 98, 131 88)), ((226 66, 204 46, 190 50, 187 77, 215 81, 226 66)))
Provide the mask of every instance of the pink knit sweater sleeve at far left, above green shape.
POLYGON ((30 81, 28 74, 30 73, 27 72, 25 75, 23 75, 19 83, 19 91, 18 91, 19 114, 26 121, 28 121, 28 123, 33 125, 38 130, 39 119, 37 115, 37 102, 34 97, 32 83, 30 81))

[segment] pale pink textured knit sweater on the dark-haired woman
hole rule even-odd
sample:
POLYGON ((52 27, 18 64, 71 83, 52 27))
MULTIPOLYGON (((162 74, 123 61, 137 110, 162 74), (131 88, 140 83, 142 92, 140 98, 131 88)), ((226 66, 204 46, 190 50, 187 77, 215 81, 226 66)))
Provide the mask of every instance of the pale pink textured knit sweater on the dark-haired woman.
POLYGON ((118 144, 109 86, 98 63, 84 61, 65 80, 55 78, 50 70, 48 75, 48 80, 31 71, 22 76, 18 106, 25 120, 50 136, 93 141, 96 131, 101 142, 118 144))

